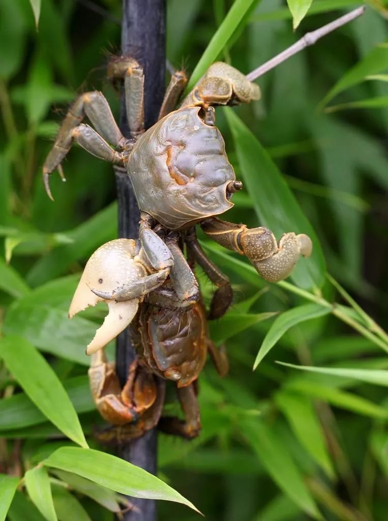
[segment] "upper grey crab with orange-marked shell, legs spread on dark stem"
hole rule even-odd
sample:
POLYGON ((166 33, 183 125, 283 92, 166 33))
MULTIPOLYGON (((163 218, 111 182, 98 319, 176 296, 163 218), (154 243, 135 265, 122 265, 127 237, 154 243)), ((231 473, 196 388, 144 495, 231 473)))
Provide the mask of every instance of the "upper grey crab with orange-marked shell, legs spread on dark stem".
MULTIPOLYGON (((142 67, 133 59, 117 60, 112 65, 111 75, 124 80, 131 138, 121 134, 101 92, 86 92, 79 96, 68 111, 43 166, 48 195, 52 198, 49 175, 56 168, 62 175, 61 162, 75 141, 98 158, 126 168, 143 212, 143 231, 139 239, 147 255, 152 257, 153 265, 161 271, 160 285, 166 268, 165 251, 159 246, 152 247, 153 241, 158 245, 160 242, 155 226, 178 231, 184 236, 199 224, 212 240, 245 255, 265 280, 276 282, 289 276, 299 256, 307 257, 311 253, 308 235, 285 233, 278 244, 273 233, 265 227, 248 229, 217 217, 233 206, 233 193, 242 189, 242 182, 235 179, 222 135, 215 126, 214 106, 257 100, 260 97, 258 85, 232 66, 216 62, 184 98, 180 108, 173 110, 186 84, 184 73, 178 71, 167 88, 159 120, 144 131, 142 67), (97 131, 81 123, 84 116, 97 131)), ((219 286, 209 315, 217 318, 232 301, 230 285, 207 259, 195 233, 189 235, 198 263, 219 286)), ((98 293, 97 288, 94 290, 105 299, 117 301, 123 294, 128 299, 137 298, 137 281, 130 282, 126 288, 120 284, 112 288, 109 295, 98 293)), ((179 294, 179 288, 176 290, 179 294)))

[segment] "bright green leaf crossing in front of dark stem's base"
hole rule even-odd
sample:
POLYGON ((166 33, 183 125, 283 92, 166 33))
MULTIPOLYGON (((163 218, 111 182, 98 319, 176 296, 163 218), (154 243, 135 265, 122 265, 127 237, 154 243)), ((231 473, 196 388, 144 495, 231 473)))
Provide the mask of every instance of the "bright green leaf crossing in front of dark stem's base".
POLYGON ((73 472, 103 487, 135 498, 175 501, 197 508, 157 477, 116 456, 104 452, 63 447, 42 462, 48 467, 73 472))

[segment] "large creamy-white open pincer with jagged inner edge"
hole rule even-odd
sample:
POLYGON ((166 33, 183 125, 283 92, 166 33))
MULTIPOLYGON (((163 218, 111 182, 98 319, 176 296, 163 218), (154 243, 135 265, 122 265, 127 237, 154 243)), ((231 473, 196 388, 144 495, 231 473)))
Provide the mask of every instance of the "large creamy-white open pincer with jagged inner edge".
POLYGON ((139 306, 139 299, 126 302, 104 301, 90 288, 114 291, 121 284, 132 282, 144 273, 133 262, 134 241, 117 239, 107 242, 96 250, 87 261, 81 280, 70 304, 69 318, 98 302, 108 304, 109 313, 103 325, 97 329, 93 340, 87 345, 86 354, 91 355, 113 340, 132 321, 139 306))

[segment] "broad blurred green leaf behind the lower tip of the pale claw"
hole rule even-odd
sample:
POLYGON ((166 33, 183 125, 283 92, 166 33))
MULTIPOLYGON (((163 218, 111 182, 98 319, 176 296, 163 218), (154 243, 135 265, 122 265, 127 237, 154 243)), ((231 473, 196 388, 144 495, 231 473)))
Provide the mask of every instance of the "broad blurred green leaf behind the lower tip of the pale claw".
POLYGON ((4 321, 6 334, 20 334, 37 348, 89 366, 86 345, 98 325, 85 318, 68 318, 66 311, 29 301, 15 301, 4 321))

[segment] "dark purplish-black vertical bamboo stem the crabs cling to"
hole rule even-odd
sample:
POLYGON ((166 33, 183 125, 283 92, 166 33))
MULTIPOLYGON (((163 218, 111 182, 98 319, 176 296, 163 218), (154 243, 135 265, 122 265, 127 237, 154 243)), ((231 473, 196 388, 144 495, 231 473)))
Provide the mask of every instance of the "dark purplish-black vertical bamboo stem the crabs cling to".
MULTIPOLYGON (((156 121, 165 91, 166 63, 166 2, 165 0, 123 0, 121 52, 135 58, 145 74, 145 128, 156 121)), ((122 100, 120 129, 129 137, 129 128, 122 100)), ((116 170, 119 237, 136 238, 139 233, 139 208, 126 172, 116 170)), ((127 379, 128 366, 135 356, 130 332, 117 339, 117 373, 122 384, 127 379)), ((134 440, 119 451, 123 460, 156 474, 156 429, 134 440)), ((130 498, 136 510, 124 515, 125 521, 155 521, 156 502, 130 498)))

